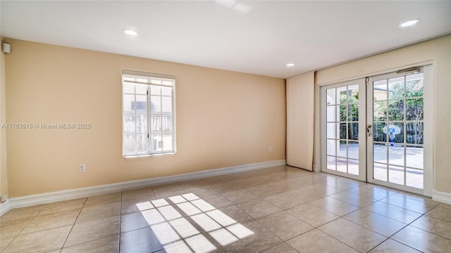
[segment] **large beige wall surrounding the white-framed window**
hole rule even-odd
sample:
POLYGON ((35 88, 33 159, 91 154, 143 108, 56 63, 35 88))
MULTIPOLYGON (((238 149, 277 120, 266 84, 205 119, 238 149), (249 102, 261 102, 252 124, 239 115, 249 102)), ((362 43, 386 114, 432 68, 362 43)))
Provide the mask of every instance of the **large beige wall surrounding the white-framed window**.
POLYGON ((7 39, 10 197, 282 160, 285 80, 7 39), (176 155, 123 159, 121 70, 175 74, 176 155), (268 152, 272 146, 273 152, 268 152), (85 173, 78 164, 86 164, 85 173))

